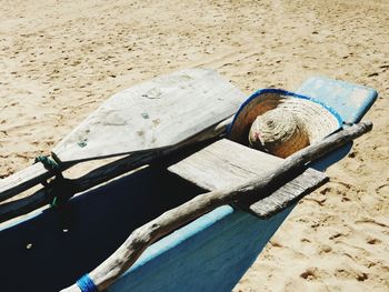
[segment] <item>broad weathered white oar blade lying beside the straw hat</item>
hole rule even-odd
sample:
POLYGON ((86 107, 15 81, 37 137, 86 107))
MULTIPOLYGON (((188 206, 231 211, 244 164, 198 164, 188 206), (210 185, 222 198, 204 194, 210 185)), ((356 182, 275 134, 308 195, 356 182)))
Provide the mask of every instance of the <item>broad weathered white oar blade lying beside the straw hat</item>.
POLYGON ((170 147, 233 114, 243 100, 212 70, 162 75, 114 94, 52 153, 74 162, 170 147))

